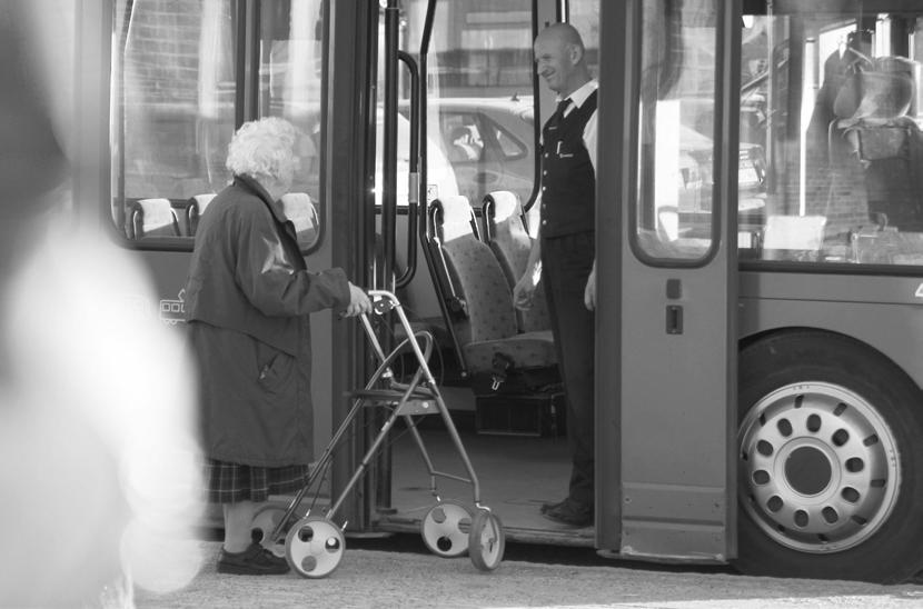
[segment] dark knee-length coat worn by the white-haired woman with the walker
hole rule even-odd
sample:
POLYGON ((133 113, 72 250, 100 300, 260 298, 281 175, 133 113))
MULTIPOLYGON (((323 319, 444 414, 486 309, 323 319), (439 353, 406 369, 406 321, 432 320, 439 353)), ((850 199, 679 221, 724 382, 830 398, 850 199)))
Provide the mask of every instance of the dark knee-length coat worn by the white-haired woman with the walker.
POLYGON ((314 457, 309 313, 349 303, 341 269, 310 272, 295 228, 237 177, 202 214, 186 286, 207 456, 262 467, 314 457))

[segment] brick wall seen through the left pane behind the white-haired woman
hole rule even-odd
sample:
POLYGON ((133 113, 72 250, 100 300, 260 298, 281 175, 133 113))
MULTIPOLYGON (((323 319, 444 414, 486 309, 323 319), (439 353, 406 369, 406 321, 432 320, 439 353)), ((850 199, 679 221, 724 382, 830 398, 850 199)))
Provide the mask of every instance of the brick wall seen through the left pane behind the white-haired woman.
MULTIPOLYGON (((126 197, 181 199, 220 188, 227 179, 222 166, 232 114, 224 122, 201 116, 205 14, 212 28, 207 34, 221 39, 216 56, 229 53, 230 2, 135 0, 123 53, 126 197), (219 33, 215 28, 221 27, 219 33)), ((232 64, 230 57, 214 59, 225 70, 232 64)), ((232 79, 206 78, 216 76, 232 79)), ((206 83, 212 90, 217 84, 206 83)))

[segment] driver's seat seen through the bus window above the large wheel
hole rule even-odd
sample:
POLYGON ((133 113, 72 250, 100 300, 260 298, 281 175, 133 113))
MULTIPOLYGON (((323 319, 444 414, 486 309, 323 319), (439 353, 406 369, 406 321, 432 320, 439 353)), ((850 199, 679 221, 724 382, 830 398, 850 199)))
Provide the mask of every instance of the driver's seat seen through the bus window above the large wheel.
MULTIPOLYGON (((881 57, 837 96, 840 146, 859 163, 867 216, 900 230, 923 230, 923 132, 907 116, 917 62, 881 57)), ((867 219, 865 222, 867 224, 867 219)))

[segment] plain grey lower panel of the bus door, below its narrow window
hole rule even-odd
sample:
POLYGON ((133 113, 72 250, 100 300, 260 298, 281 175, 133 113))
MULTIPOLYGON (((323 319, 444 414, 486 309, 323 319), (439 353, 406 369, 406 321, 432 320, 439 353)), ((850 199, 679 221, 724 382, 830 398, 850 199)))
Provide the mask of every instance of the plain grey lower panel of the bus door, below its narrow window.
POLYGON ((731 381, 724 274, 719 264, 625 270, 632 296, 622 311, 627 321, 622 329, 623 555, 724 560, 733 551, 725 536, 734 503, 726 486, 731 381), (677 278, 682 299, 669 300, 666 284, 677 278), (672 335, 666 309, 677 306, 683 333, 672 335))

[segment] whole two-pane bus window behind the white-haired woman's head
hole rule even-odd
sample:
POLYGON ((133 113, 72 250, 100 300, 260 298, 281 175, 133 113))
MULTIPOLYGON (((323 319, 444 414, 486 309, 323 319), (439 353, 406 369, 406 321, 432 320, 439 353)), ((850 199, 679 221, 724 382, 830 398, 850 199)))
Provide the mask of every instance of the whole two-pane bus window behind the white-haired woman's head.
MULTIPOLYGON (((302 250, 322 222, 319 201, 321 0, 260 3, 259 117, 305 134, 285 203, 302 250)), ((118 0, 112 52, 112 219, 146 244, 191 240, 198 219, 231 176, 225 168, 235 121, 234 0, 118 0)), ((237 100, 237 101, 236 101, 237 100)))

